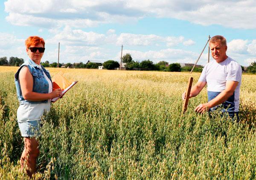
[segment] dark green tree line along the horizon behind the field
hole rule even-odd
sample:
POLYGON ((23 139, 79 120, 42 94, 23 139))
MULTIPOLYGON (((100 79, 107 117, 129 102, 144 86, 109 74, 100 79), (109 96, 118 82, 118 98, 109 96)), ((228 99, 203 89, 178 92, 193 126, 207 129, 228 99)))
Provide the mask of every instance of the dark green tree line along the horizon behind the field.
MULTIPOLYGON (((24 60, 22 58, 18 57, 10 57, 9 61, 7 60, 7 57, 1 57, 0 58, 0 65, 6 65, 6 66, 20 66, 24 60)), ((122 56, 122 63, 125 63, 124 67, 126 70, 158 70, 158 71, 172 71, 172 72, 184 72, 184 71, 191 71, 192 70, 192 65, 191 66, 184 66, 181 67, 179 63, 172 63, 169 64, 166 61, 160 61, 157 63, 153 63, 149 59, 144 60, 144 61, 134 61, 131 57, 131 54, 126 53, 124 56, 122 56)), ((41 65, 44 67, 51 67, 51 68, 57 68, 58 63, 57 62, 52 62, 49 63, 49 61, 41 62, 41 65)), ((102 65, 105 69, 108 70, 113 70, 115 68, 119 68, 120 64, 117 61, 114 60, 108 60, 105 61, 103 64, 101 63, 94 63, 94 62, 89 62, 84 64, 83 62, 79 63, 61 63, 59 67, 65 67, 65 68, 88 68, 88 69, 97 69, 99 65, 102 65)), ((197 66, 194 69, 194 72, 202 72, 203 66, 197 66)), ((241 66, 242 70, 244 71, 244 67, 241 66)), ((253 62, 250 64, 249 67, 246 69, 247 73, 254 73, 256 74, 256 62, 253 62)))

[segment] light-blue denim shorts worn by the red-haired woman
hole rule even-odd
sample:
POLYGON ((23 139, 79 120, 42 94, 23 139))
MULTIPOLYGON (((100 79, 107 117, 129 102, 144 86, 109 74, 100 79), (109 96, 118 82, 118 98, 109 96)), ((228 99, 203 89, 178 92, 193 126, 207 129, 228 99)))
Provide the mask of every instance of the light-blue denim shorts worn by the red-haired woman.
POLYGON ((18 122, 22 137, 40 136, 41 120, 18 122))

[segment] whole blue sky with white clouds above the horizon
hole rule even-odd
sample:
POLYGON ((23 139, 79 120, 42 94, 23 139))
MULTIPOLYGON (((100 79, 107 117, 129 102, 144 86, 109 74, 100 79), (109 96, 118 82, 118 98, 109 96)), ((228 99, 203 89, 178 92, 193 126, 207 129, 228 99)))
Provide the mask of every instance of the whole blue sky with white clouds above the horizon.
MULTIPOLYGON (((46 41, 42 62, 136 61, 193 63, 208 35, 227 38, 227 55, 256 61, 255 0, 5 0, 0 3, 0 57, 27 59, 24 41, 46 41)), ((198 62, 207 63, 206 49, 198 62)), ((211 59, 212 60, 212 59, 211 59)))

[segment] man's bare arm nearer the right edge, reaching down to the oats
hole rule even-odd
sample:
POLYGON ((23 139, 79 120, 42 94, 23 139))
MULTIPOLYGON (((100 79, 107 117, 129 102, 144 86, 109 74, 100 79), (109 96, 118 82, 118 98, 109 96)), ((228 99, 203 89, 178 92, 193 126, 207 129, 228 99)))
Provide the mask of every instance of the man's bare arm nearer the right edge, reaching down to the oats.
POLYGON ((227 81, 226 82, 226 89, 219 93, 218 96, 213 98, 211 101, 204 103, 204 104, 199 104, 196 108, 195 111, 198 113, 203 113, 205 111, 208 111, 210 108, 215 107, 224 101, 226 101, 230 96, 233 95, 236 86, 238 85, 239 82, 236 81, 227 81))

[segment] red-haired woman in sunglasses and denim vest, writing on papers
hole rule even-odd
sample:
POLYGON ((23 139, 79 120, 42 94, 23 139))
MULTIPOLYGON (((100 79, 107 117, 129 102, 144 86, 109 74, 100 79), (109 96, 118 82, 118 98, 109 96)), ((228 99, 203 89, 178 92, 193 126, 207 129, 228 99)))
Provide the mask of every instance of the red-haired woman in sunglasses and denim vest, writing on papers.
POLYGON ((24 137, 24 150, 20 158, 23 168, 27 160, 31 177, 36 171, 36 159, 39 155, 38 141, 35 132, 41 124, 44 111, 49 111, 51 99, 61 95, 61 89, 52 91, 52 80, 49 72, 40 65, 44 55, 44 39, 31 36, 25 41, 29 59, 24 62, 15 74, 15 85, 20 106, 17 110, 17 121, 21 136, 24 137))

